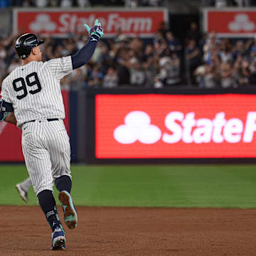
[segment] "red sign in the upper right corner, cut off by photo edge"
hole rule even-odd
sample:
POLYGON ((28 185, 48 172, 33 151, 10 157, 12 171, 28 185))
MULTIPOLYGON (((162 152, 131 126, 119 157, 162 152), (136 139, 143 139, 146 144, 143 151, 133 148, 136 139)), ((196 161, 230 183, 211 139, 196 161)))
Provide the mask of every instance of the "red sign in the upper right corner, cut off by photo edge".
POLYGON ((247 37, 256 33, 256 9, 204 9, 206 32, 218 36, 247 37))

